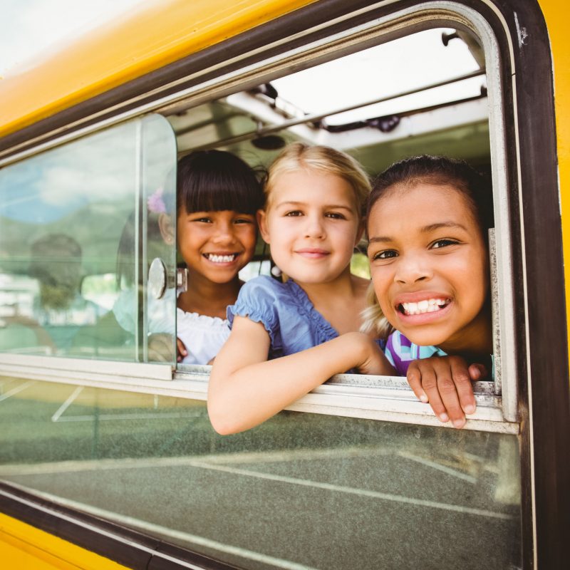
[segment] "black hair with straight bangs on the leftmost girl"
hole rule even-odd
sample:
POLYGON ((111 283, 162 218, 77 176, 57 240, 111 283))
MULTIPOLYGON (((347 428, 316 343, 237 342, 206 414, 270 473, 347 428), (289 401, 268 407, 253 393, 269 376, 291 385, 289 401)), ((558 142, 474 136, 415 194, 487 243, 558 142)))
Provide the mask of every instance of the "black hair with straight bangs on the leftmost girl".
POLYGON ((223 150, 198 150, 178 161, 178 212, 234 210, 255 214, 264 195, 257 175, 241 158, 223 150))

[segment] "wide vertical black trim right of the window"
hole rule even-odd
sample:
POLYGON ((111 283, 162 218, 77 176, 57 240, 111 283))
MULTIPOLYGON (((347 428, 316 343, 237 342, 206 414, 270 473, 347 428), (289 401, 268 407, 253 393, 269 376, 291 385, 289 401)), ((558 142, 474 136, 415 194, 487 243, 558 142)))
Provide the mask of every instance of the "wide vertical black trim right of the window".
MULTIPOLYGON (((522 410, 522 459, 529 462, 532 438, 538 566, 565 569, 570 537, 570 386, 551 51, 544 16, 536 0, 495 0, 495 4, 509 26, 517 71, 532 385, 532 432, 527 410, 522 410)), ((509 140, 514 141, 514 137, 509 140)), ((515 212, 519 214, 518 207, 515 212)), ((516 297, 522 299, 522 294, 517 291, 516 297)), ((524 311, 519 314, 524 315, 524 311)), ((523 326, 521 319, 520 328, 523 326)), ((524 353, 518 351, 519 360, 524 353)), ((520 367, 526 370, 522 363, 520 367)), ((521 376, 519 390, 527 407, 526 374, 521 376)), ((530 481, 526 476, 530 465, 523 463, 523 468, 524 505, 530 502, 530 481)), ((525 568, 532 567, 531 545, 532 541, 524 540, 525 568)))

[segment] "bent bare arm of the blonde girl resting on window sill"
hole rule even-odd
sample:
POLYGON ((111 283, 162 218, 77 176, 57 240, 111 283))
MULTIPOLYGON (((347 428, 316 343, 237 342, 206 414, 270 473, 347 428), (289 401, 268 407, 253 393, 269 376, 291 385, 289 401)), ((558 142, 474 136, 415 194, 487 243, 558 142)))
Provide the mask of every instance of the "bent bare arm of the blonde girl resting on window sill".
POLYGON ((214 430, 248 430, 350 368, 368 374, 394 370, 363 333, 347 333, 290 356, 267 361, 269 334, 261 323, 236 317, 209 379, 208 413, 214 430))

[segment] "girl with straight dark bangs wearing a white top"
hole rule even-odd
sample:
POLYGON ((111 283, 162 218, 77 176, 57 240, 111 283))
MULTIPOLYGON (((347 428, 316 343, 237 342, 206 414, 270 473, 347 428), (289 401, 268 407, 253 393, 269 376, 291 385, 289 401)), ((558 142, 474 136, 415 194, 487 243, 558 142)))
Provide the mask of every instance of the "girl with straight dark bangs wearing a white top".
MULTIPOLYGON (((254 256, 262 202, 254 171, 229 152, 192 152, 178 162, 177 243, 188 269, 177 300, 179 361, 211 363, 227 340, 226 309, 243 285, 238 271, 254 256)), ((163 234, 172 239, 172 224, 163 234)))

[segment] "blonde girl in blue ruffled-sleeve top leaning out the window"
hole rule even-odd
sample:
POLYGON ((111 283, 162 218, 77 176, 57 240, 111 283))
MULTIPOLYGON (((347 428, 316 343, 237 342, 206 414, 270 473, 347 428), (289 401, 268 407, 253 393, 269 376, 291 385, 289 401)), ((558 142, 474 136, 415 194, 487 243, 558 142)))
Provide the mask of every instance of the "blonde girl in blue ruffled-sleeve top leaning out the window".
POLYGON ((217 432, 258 425, 336 373, 393 373, 357 332, 368 281, 351 275, 350 261, 369 191, 358 163, 332 148, 294 143, 271 165, 257 219, 290 279, 252 279, 228 307, 232 333, 209 380, 217 432))

